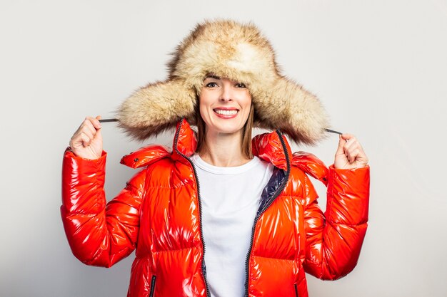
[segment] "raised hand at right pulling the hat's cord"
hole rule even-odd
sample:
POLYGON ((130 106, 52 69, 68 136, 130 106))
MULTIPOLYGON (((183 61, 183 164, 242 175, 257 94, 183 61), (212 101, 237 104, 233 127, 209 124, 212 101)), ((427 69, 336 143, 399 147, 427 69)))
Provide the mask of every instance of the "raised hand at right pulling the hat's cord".
POLYGON ((333 167, 337 169, 353 169, 366 167, 366 165, 368 165, 368 157, 366 157, 356 137, 344 133, 340 135, 333 167))

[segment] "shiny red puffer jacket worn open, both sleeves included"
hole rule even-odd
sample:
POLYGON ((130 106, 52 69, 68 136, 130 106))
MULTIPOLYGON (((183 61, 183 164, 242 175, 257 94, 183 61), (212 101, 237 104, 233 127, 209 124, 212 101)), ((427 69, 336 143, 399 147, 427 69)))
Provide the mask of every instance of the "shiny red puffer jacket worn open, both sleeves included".
MULTIPOLYGON (((204 263, 199 181, 189 157, 196 138, 177 124, 173 150, 144 147, 121 162, 143 168, 106 204, 104 166, 66 150, 61 216, 74 255, 112 266, 136 249, 129 297, 210 296, 204 263)), ((368 220, 369 167, 327 168, 292 154, 281 131, 253 138, 253 153, 275 169, 253 222, 246 296, 308 296, 306 273, 345 276, 356 266, 368 220), (308 175, 327 185, 323 214, 308 175)), ((243 265, 243 264, 241 264, 243 265)))

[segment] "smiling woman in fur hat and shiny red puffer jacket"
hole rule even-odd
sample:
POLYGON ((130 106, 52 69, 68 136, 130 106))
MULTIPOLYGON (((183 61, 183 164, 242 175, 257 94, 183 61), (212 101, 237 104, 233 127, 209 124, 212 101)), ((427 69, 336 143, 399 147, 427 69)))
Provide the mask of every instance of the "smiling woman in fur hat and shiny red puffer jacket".
POLYGON ((71 138, 61 215, 74 255, 109 267, 136 249, 131 297, 308 296, 305 272, 349 273, 368 220, 368 160, 356 138, 341 135, 329 168, 291 153, 286 135, 315 143, 326 113, 278 73, 253 25, 200 24, 169 66, 169 79, 136 91, 118 118, 139 139, 176 127, 173 148, 124 156, 142 170, 108 204, 99 117, 71 138), (255 126, 273 132, 251 140, 255 126), (328 186, 325 214, 308 175, 328 186))

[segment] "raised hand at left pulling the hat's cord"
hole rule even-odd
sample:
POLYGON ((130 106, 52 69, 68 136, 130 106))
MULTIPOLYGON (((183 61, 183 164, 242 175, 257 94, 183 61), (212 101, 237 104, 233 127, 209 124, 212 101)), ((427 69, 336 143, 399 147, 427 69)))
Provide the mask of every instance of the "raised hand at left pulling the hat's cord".
POLYGON ((70 140, 71 151, 84 159, 98 159, 102 155, 101 115, 86 117, 70 140))

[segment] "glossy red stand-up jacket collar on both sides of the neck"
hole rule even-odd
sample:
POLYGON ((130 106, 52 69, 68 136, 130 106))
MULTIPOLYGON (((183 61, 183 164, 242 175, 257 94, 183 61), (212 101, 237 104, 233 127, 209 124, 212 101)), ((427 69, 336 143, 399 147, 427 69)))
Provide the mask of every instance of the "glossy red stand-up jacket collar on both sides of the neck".
MULTIPOLYGON (((288 160, 292 160, 291 148, 280 130, 256 135, 251 140, 251 146, 253 155, 256 157, 270 162, 282 170, 288 169, 288 160)), ((191 157, 196 152, 196 147, 196 132, 183 118, 176 124, 172 155, 173 157, 178 157, 179 155, 191 157)))

